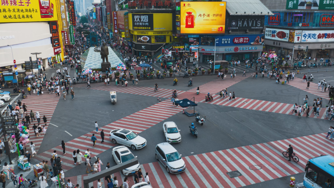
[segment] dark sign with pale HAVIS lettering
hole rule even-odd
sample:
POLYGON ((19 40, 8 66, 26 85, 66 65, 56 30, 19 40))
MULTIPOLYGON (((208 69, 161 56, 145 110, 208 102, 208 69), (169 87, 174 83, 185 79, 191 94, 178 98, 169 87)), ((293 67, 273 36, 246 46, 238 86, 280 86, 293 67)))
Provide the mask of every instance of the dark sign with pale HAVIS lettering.
POLYGON ((227 29, 263 29, 264 17, 252 16, 238 16, 229 18, 226 24, 227 29))

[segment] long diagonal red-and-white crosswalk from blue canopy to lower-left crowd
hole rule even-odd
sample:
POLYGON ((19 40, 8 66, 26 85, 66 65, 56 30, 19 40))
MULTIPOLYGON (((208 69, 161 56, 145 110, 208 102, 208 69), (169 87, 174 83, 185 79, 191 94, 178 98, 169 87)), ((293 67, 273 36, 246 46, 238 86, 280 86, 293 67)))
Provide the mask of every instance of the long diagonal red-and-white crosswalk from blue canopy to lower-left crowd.
MULTIPOLYGON (((167 118, 181 112, 183 109, 182 107, 172 107, 171 102, 169 100, 158 102, 157 104, 151 105, 147 108, 144 108, 136 113, 128 115, 120 120, 117 120, 111 124, 105 125, 101 127, 99 130, 104 129, 105 138, 104 143, 101 143, 102 139, 99 133, 95 131, 91 131, 87 134, 80 136, 79 138, 75 138, 69 142, 66 142, 66 149, 73 151, 80 149, 81 152, 84 152, 89 148, 92 157, 110 149, 111 147, 115 146, 109 140, 109 132, 113 129, 117 128, 125 128, 131 130, 136 133, 140 133, 147 128, 156 125, 167 118), (90 141, 92 134, 95 134, 97 137, 96 145, 93 148, 93 144, 90 141)), ((40 138, 40 137, 39 137, 40 138)), ((59 155, 62 155, 62 167, 65 170, 69 170, 73 167, 76 167, 73 162, 73 157, 71 152, 67 152, 65 155, 62 154, 63 148, 62 146, 56 146, 55 148, 49 149, 43 153, 40 153, 35 158, 39 160, 50 160, 53 151, 56 150, 59 155)), ((83 156, 84 160, 84 156, 83 156)))

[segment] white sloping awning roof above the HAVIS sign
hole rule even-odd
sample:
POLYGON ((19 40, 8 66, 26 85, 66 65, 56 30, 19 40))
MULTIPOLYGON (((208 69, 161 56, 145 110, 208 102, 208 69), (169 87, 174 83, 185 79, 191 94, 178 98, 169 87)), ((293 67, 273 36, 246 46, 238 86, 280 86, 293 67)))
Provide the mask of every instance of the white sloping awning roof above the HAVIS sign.
POLYGON ((224 1, 226 1, 226 10, 232 16, 273 15, 272 12, 260 0, 224 0, 224 1))

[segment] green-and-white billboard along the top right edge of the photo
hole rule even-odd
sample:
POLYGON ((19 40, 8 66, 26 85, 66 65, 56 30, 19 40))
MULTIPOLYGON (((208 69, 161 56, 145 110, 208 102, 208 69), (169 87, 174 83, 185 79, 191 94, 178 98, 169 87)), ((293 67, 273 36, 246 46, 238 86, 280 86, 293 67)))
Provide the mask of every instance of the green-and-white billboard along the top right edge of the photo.
POLYGON ((333 0, 287 0, 287 9, 334 10, 333 0))

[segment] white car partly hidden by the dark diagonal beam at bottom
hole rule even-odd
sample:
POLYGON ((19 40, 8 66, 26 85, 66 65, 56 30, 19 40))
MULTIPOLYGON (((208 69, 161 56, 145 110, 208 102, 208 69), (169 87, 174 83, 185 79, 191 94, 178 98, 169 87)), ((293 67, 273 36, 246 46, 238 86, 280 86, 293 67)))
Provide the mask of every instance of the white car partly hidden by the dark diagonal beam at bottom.
MULTIPOLYGON (((126 161, 129 161, 131 159, 134 159, 137 156, 134 156, 131 151, 125 147, 125 146, 117 146, 113 147, 111 150, 112 158, 116 162, 117 165, 120 165, 122 163, 125 163, 126 161)), ((121 172, 125 176, 134 174, 136 171, 138 171, 140 168, 139 163, 137 165, 134 165, 132 167, 127 167, 123 169, 121 172)))

